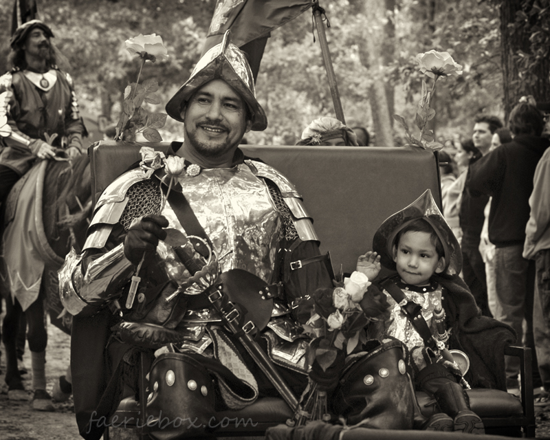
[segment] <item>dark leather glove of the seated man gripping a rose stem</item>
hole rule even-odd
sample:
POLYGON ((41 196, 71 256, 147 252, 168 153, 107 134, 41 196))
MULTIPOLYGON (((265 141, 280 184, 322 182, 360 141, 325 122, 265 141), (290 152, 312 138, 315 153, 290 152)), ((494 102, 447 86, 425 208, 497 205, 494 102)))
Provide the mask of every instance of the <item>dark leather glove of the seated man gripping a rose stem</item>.
POLYGON ((124 256, 134 265, 140 264, 144 253, 153 254, 159 240, 166 239, 168 220, 158 214, 135 219, 124 239, 124 256))

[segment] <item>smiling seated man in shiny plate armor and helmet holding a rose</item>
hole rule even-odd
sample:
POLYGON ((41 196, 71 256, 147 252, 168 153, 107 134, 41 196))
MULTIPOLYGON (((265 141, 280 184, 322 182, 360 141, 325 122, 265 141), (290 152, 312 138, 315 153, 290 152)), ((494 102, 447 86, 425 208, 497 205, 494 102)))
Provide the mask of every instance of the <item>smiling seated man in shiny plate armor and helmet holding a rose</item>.
MULTIPOLYGON (((199 355, 201 365, 221 372, 216 408, 243 408, 258 395, 278 395, 281 384, 268 379, 266 362, 239 344, 249 317, 267 364, 299 395, 307 384, 308 340, 292 305, 332 286, 328 256, 320 255, 296 188, 238 148, 243 135, 264 130, 267 119, 250 66, 230 34, 201 58, 166 111, 184 122, 184 142, 173 142, 167 157, 142 148, 140 166, 98 200, 83 254, 69 254, 60 272, 63 304, 74 315, 74 404, 86 439, 101 436, 101 417, 118 406, 120 377, 135 384, 135 347, 155 351, 155 362, 163 351, 199 355), (223 326, 225 311, 212 307, 225 295, 221 290, 241 294, 221 300, 228 315, 234 305, 234 315, 245 316, 237 326, 241 336, 223 326), (221 386, 225 367, 245 393, 221 386)), ((155 384, 148 408, 163 397, 155 384)), ((210 396, 208 387, 199 390, 210 396)), ((177 415, 190 417, 181 412, 193 404, 170 403, 161 407, 163 415, 179 405, 177 415)))

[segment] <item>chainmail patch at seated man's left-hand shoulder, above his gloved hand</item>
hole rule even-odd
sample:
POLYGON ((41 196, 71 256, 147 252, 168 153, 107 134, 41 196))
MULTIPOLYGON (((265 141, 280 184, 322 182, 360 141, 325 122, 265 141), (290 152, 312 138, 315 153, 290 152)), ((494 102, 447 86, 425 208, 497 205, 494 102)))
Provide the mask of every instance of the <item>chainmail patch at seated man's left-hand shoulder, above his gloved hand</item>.
POLYGON ((124 230, 128 230, 133 219, 147 214, 158 214, 162 203, 160 187, 151 179, 142 180, 128 188, 126 197, 129 198, 126 208, 120 217, 124 230))

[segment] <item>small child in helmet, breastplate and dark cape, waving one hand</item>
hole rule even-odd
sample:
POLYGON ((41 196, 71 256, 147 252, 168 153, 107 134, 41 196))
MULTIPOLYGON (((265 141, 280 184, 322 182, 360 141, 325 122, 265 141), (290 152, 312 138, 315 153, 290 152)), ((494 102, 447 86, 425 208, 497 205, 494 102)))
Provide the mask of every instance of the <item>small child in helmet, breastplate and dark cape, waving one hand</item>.
POLYGON ((373 251, 359 257, 357 270, 372 279, 384 265, 397 275, 373 283, 384 292, 389 307, 371 322, 368 336, 380 341, 395 338, 408 348, 417 391, 433 396, 441 410, 422 428, 485 432, 481 418, 470 410, 464 388, 470 382, 505 390, 503 349, 514 342, 514 333, 481 316, 458 276, 459 243, 430 190, 382 223, 373 251), (461 371, 449 349, 470 355, 466 379, 466 369, 461 371))

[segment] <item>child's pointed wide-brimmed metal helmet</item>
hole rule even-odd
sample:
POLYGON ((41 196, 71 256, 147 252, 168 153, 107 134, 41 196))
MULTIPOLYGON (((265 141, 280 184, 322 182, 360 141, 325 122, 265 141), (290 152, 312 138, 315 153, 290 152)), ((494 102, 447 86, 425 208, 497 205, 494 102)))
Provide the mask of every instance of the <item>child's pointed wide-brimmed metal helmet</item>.
POLYGON ((391 215, 380 225, 373 238, 373 251, 380 254, 380 263, 390 270, 396 269, 395 261, 393 261, 395 237, 399 231, 417 219, 424 219, 430 223, 443 244, 445 252, 445 270, 443 272, 448 275, 459 274, 462 270, 462 252, 459 241, 456 240, 443 214, 437 208, 430 190, 426 190, 409 206, 391 215))

